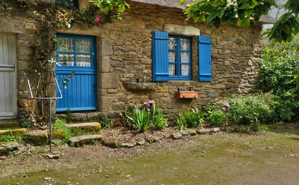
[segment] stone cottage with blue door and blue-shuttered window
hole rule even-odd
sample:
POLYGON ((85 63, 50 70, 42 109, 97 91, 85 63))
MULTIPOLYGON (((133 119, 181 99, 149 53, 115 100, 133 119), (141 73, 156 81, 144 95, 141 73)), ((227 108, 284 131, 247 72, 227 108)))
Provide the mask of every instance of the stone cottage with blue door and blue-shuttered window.
MULTIPOLYGON (((201 21, 184 21, 178 1, 128 0, 131 9, 122 20, 58 30, 67 47, 57 49, 57 78, 71 70, 75 75, 62 90, 56 113, 70 109, 88 119, 114 118, 126 106, 154 100, 171 120, 213 98, 258 92, 263 61, 259 36, 262 25, 274 20, 267 15, 248 28, 222 23, 214 29, 201 21), (177 98, 178 90, 195 91, 198 97, 177 98)), ((76 2, 79 9, 91 5, 76 2)), ((29 99, 23 72, 35 24, 28 13, 0 13, 0 119, 15 118, 29 99)))

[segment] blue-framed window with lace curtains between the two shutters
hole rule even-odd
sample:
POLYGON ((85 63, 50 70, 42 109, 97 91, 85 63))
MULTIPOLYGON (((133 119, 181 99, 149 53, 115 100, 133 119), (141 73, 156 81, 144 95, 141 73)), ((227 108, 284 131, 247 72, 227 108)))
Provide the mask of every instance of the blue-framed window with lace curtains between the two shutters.
POLYGON ((169 80, 192 80, 192 38, 169 35, 169 80))

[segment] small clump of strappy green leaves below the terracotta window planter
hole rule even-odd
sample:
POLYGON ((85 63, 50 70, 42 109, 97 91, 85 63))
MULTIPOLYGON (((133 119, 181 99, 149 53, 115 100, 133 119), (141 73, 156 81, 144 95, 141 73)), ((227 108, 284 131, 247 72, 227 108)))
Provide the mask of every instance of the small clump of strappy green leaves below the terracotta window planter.
POLYGON ((176 123, 180 125, 186 125, 187 128, 197 128, 203 127, 203 118, 205 116, 205 113, 201 110, 198 110, 195 108, 195 110, 187 109, 184 113, 179 115, 179 118, 177 119, 176 123))

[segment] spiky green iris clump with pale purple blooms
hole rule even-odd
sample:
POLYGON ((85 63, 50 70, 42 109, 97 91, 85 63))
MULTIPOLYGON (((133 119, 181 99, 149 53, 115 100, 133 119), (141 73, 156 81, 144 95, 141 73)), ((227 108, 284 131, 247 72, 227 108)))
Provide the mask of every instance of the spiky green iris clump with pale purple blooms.
POLYGON ((127 116, 127 118, 134 123, 138 131, 146 131, 150 127, 152 129, 164 129, 167 127, 167 120, 163 118, 162 110, 156 109, 155 103, 151 100, 144 102, 141 110, 137 103, 133 112, 133 118, 130 116, 127 116))

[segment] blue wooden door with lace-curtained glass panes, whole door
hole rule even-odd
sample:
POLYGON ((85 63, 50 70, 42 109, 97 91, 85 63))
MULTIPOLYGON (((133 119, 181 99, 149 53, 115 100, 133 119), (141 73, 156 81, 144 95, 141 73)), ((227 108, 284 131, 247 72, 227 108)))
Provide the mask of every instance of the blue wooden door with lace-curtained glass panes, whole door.
MULTIPOLYGON (((61 86, 62 99, 56 103, 56 112, 96 110, 97 73, 96 38, 87 35, 57 33, 58 44, 56 78, 59 84, 71 77, 66 86, 61 86)), ((56 95, 59 96, 58 89, 56 95)))

